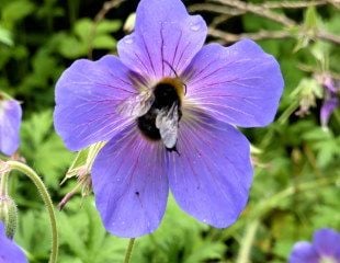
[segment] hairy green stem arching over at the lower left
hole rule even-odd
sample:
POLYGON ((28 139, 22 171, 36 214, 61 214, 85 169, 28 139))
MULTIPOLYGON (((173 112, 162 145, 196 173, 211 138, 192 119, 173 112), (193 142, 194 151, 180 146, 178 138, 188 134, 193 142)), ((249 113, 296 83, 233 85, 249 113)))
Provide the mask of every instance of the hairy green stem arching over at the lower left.
POLYGON ((24 174, 26 174, 37 187, 45 206, 48 210, 50 227, 52 227, 52 251, 49 256, 49 263, 56 263, 58 256, 58 231, 57 231, 57 220, 54 210, 54 206, 50 199, 50 196, 46 190, 45 184, 41 180, 41 178, 26 164, 18 162, 18 161, 8 161, 7 164, 12 170, 18 170, 24 174))

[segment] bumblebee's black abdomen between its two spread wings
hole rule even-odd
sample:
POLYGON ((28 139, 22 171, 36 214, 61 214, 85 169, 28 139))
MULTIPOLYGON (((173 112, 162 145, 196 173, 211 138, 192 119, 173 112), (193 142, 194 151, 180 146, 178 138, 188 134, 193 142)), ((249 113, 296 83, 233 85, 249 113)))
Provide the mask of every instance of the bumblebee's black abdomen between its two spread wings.
POLYGON ((156 112, 150 110, 147 114, 137 118, 138 128, 140 132, 151 140, 159 140, 159 129, 156 127, 156 112))

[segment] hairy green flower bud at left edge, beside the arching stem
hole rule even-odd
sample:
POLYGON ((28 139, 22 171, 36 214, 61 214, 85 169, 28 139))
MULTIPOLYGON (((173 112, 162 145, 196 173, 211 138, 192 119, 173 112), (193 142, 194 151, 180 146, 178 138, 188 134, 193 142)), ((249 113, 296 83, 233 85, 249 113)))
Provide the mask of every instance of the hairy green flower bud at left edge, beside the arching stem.
POLYGON ((4 224, 5 236, 12 239, 16 230, 18 209, 9 196, 0 196, 0 221, 4 224))

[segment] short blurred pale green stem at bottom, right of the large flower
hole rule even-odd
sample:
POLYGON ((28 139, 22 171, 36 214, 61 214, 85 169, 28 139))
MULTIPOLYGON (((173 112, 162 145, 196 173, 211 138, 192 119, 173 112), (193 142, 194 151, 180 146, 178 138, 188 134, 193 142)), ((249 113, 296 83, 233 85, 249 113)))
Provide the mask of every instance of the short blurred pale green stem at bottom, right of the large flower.
POLYGON ((250 258, 251 245, 256 237, 259 225, 260 225, 260 221, 257 219, 248 225, 246 235, 241 241, 241 248, 239 250, 238 258, 236 261, 237 263, 250 262, 249 258, 250 258))

